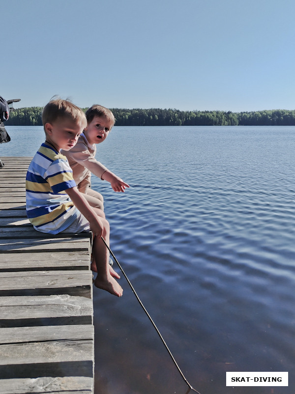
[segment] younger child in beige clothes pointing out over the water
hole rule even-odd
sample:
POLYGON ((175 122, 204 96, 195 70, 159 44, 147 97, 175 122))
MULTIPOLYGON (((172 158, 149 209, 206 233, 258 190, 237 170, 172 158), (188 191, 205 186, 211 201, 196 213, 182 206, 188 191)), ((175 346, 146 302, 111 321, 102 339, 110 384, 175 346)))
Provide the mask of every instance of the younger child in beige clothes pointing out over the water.
POLYGON ((103 142, 115 124, 111 110, 102 105, 92 105, 86 111, 87 127, 80 135, 77 144, 69 151, 62 151, 73 170, 73 178, 78 190, 84 193, 92 207, 103 210, 103 197, 90 189, 91 173, 110 182, 115 192, 124 192, 129 185, 95 159, 96 144, 103 142))

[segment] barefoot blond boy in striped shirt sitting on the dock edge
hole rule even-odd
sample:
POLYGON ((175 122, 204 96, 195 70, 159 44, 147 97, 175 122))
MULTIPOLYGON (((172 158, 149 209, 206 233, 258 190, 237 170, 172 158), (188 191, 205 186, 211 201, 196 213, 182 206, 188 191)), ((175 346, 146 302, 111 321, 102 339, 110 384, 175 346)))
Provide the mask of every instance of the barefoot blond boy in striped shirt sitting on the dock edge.
POLYGON ((43 109, 45 142, 32 159, 26 178, 27 215, 35 230, 50 234, 94 234, 92 254, 97 268, 94 285, 116 296, 123 290, 109 265, 110 226, 101 209, 91 207, 77 189, 72 170, 60 150, 71 149, 87 126, 84 112, 68 100, 51 100, 43 109))

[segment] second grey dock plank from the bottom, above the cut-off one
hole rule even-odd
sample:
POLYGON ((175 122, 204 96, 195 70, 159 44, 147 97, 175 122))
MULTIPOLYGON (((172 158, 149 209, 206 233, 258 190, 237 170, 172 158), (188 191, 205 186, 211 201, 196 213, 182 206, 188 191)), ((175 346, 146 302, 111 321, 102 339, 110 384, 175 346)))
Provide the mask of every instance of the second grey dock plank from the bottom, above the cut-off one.
POLYGON ((0 345, 0 365, 93 361, 92 340, 66 340, 0 345))

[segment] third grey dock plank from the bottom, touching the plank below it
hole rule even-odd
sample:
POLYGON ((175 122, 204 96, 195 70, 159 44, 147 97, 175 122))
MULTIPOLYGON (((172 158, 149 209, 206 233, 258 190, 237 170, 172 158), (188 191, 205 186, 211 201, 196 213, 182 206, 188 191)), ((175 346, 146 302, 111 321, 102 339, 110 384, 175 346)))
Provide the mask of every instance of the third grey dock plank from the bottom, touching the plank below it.
POLYGON ((40 326, 0 328, 0 347, 7 343, 27 343, 65 340, 93 340, 91 325, 40 326))

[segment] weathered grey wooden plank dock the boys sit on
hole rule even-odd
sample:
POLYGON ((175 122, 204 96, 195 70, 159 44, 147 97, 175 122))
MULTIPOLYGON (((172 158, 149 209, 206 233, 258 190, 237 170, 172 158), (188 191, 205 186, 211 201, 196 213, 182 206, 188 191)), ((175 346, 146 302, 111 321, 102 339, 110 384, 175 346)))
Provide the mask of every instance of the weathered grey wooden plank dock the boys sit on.
POLYGON ((92 394, 90 236, 43 234, 26 216, 31 158, 1 158, 0 394, 92 394))

